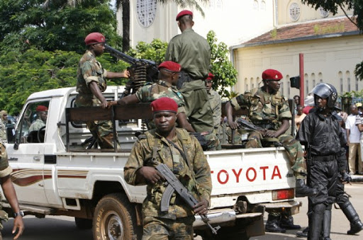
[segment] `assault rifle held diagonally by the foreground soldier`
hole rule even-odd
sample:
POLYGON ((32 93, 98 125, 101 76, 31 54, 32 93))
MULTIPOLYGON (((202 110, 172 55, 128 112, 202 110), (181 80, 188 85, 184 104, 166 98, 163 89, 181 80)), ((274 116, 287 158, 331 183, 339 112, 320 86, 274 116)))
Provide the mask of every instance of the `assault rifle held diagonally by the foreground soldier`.
MULTIPOLYGON (((180 197, 186 202, 190 207, 194 207, 198 204, 198 200, 196 200, 191 193, 180 183, 178 178, 172 173, 169 167, 165 164, 159 164, 156 166, 157 171, 162 173, 162 176, 167 180, 167 189, 165 189, 162 195, 162 202, 161 202, 161 210, 162 212, 169 210, 170 199, 172 198, 172 194, 174 191, 180 195, 180 197)), ((211 224, 208 223, 209 219, 206 215, 201 215, 201 219, 205 222, 208 227, 211 229, 213 234, 217 234, 218 229, 220 226, 212 227, 211 224)))

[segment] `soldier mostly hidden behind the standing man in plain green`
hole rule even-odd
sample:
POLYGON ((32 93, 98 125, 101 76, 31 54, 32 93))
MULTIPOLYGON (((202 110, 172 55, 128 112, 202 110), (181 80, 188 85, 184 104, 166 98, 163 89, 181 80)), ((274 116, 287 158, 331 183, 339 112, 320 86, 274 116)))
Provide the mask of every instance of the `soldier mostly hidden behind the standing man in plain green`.
MULTIPOLYGON (((222 99, 212 88, 213 78, 214 75, 211 72, 208 73, 206 88, 209 96, 209 103, 211 103, 211 109, 213 112, 213 133, 218 137, 219 142, 221 142, 223 135, 218 132, 218 128, 220 126, 220 118, 222 116, 222 99)), ((220 145, 218 145, 218 149, 220 149, 220 145)))

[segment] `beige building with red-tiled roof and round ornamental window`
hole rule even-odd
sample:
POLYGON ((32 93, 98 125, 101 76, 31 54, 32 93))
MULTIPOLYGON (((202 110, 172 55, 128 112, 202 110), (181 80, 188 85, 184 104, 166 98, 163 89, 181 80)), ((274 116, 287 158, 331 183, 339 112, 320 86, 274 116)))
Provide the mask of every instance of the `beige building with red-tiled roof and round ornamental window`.
MULTIPOLYGON (((278 69, 284 75, 281 91, 292 98, 289 78, 297 76, 298 55, 304 55, 305 96, 320 81, 333 84, 338 93, 362 89, 354 67, 363 59, 363 36, 342 11, 336 16, 315 10, 298 0, 210 0, 195 9, 194 30, 203 37, 214 30, 218 41, 230 47, 238 70, 234 91, 242 93, 259 86, 264 69, 278 69)), ((175 17, 183 10, 156 0, 130 1, 130 44, 166 42, 180 33, 175 17)), ((351 12, 347 12, 351 14, 351 12)), ((121 14, 118 32, 122 34, 121 14)))

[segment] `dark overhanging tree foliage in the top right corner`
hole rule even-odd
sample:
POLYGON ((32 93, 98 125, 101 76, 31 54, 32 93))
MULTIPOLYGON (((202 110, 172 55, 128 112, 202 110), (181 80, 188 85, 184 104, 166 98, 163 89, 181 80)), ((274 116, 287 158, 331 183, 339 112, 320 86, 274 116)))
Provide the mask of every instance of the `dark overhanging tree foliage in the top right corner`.
MULTIPOLYGON (((335 15, 338 9, 341 9, 347 18, 350 19, 354 25, 363 31, 363 1, 362 0, 302 0, 303 4, 311 5, 313 8, 323 8, 325 11, 330 11, 335 15), (348 16, 345 9, 353 9, 353 16, 348 16)), ((355 76, 362 81, 363 80, 363 62, 357 64, 354 70, 355 76)))

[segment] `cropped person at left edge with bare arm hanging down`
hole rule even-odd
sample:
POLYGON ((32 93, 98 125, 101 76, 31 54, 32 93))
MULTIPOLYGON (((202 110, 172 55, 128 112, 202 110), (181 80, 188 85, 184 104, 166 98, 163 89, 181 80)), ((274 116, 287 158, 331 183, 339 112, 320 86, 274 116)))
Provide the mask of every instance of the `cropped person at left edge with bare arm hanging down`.
MULTIPOLYGON (((14 236, 13 239, 18 239, 24 231, 24 224, 23 224, 23 216, 24 213, 20 210, 18 204, 18 198, 16 197, 16 192, 13 186, 13 182, 11 181, 11 166, 9 166, 8 162, 8 154, 6 153, 6 132, 5 132, 5 125, 3 124, 2 120, 0 125, 0 183, 1 188, 3 189, 3 193, 5 195, 6 200, 11 205, 11 209, 15 212, 14 215, 14 223, 13 223, 13 231, 14 234, 18 229, 18 233, 14 236)), ((0 195, 0 229, 3 229, 3 225, 1 222, 6 222, 8 220, 8 214, 1 210, 1 195, 0 195)), ((0 240, 2 239, 1 232, 0 232, 0 240)))

